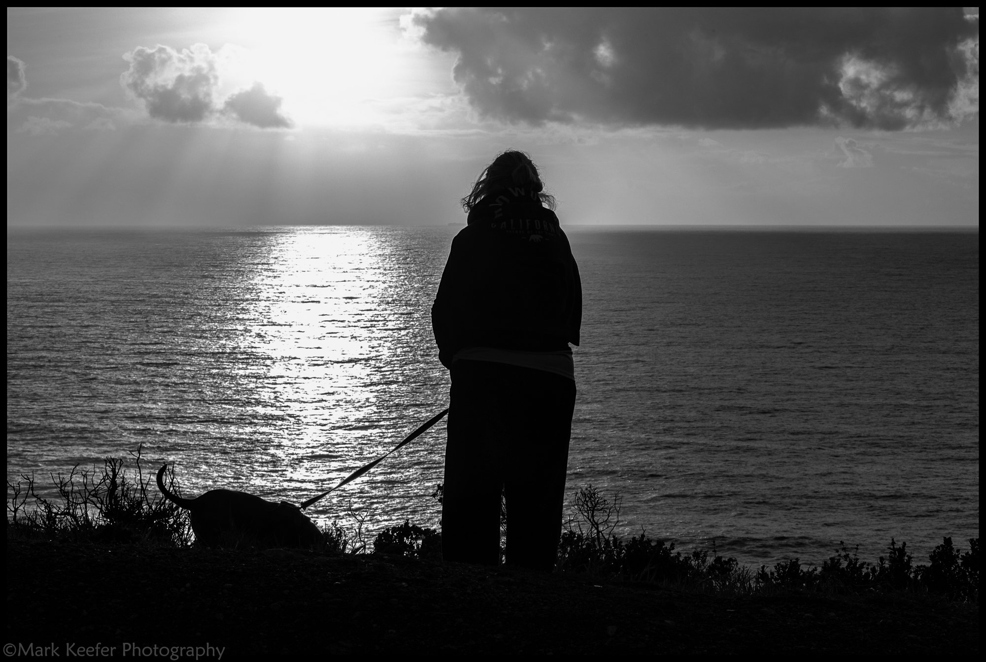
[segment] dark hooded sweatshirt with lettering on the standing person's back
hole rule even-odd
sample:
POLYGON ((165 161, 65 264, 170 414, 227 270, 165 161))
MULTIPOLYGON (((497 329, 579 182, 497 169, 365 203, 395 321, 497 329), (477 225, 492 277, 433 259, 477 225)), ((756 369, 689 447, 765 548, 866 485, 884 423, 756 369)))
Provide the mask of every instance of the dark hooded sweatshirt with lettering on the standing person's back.
POLYGON ((568 237, 529 188, 490 193, 452 241, 432 329, 439 361, 464 348, 571 352, 579 344, 582 283, 568 237))

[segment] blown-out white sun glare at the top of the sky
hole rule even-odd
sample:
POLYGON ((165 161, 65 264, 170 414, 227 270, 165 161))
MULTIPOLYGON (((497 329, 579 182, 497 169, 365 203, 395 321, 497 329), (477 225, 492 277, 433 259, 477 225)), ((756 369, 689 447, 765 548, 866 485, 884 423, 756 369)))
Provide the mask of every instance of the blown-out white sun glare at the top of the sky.
POLYGON ((243 9, 230 17, 245 44, 235 64, 284 99, 302 123, 366 124, 400 94, 398 11, 376 8, 243 9))

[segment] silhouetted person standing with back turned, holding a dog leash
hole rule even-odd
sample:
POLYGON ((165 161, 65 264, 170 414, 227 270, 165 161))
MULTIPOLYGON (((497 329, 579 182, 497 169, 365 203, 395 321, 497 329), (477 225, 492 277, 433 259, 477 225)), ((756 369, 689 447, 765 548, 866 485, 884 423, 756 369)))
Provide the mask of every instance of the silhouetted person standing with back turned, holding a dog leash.
POLYGON ((462 198, 432 306, 452 371, 442 549, 447 561, 550 570, 561 535, 582 284, 554 198, 523 152, 504 152, 462 198))

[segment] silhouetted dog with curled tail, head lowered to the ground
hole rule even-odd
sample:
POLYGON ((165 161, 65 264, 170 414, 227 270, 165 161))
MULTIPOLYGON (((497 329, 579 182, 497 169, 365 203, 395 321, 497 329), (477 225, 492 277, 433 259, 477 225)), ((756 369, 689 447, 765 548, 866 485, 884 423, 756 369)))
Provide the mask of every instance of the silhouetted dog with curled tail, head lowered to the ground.
POLYGON ((306 547, 321 542, 321 532, 294 503, 274 503, 246 492, 210 490, 196 498, 181 498, 165 488, 165 469, 158 471, 158 490, 188 510, 191 529, 207 547, 257 542, 278 547, 306 547))

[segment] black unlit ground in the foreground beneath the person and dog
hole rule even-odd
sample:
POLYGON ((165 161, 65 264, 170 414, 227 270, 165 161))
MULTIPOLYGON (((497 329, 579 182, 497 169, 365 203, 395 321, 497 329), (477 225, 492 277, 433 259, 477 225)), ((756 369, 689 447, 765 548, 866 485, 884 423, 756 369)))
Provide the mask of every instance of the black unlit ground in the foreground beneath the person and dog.
POLYGON ((732 598, 458 563, 33 540, 7 541, 6 613, 5 653, 54 644, 61 658, 97 642, 115 658, 157 645, 157 659, 206 644, 199 659, 979 649, 978 607, 907 595, 732 598))

